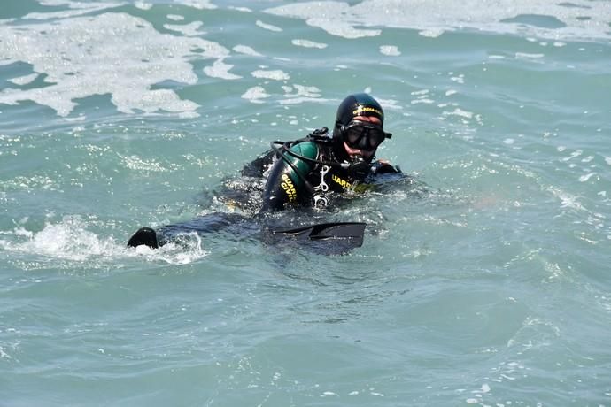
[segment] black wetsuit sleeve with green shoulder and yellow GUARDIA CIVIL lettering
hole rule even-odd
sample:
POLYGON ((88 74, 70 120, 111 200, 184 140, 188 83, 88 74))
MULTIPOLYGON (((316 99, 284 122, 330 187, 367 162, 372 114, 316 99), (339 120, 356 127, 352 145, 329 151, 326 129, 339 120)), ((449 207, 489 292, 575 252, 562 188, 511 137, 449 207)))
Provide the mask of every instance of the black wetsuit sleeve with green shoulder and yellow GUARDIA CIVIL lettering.
MULTIPOLYGON (((316 158, 318 147, 313 142, 300 142, 290 148, 298 156, 316 158)), ((272 167, 263 194, 261 211, 281 210, 286 204, 307 202, 312 195, 312 187, 307 177, 313 170, 313 163, 291 156, 284 152, 272 167)))

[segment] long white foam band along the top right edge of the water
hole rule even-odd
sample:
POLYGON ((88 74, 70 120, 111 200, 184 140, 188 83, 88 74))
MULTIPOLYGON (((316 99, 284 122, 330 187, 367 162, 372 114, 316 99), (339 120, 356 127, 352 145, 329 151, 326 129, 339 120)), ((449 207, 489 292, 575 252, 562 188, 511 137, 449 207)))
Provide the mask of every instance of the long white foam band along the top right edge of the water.
POLYGON ((380 29, 366 27, 411 28, 429 37, 465 28, 553 40, 611 37, 611 3, 607 1, 499 0, 488 7, 479 0, 364 0, 352 6, 345 2, 310 1, 273 7, 266 12, 304 19, 312 27, 345 38, 381 34, 380 29))

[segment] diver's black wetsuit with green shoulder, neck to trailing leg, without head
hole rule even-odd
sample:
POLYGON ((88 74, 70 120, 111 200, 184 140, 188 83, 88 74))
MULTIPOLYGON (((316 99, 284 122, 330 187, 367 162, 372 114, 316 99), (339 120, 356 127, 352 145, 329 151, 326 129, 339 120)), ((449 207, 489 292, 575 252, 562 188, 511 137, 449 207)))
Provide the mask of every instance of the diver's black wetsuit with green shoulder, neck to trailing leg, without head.
MULTIPOLYGON (((385 183, 381 181, 383 178, 391 177, 393 184, 397 180, 408 180, 408 183, 412 180, 401 173, 398 167, 380 161, 361 165, 360 171, 355 172, 350 163, 340 162, 336 157, 331 138, 320 133, 310 134, 296 142, 280 143, 282 148, 277 147, 278 144, 273 143, 273 150, 268 150, 244 166, 241 179, 244 183, 228 181, 223 190, 217 191, 214 196, 230 207, 251 212, 251 216, 220 211, 159 227, 156 231, 143 228, 146 233, 139 237, 143 229, 139 230, 128 244, 158 247, 179 239, 182 234, 208 234, 226 228, 235 229, 236 234, 250 236, 259 233, 261 227, 266 229, 277 223, 278 219, 265 216, 270 211, 279 211, 291 205, 328 207, 336 203, 338 196, 358 196, 377 189, 385 183), (366 171, 363 171, 363 168, 366 171), (262 193, 262 199, 253 198, 257 192, 262 193), (252 207, 254 203, 257 203, 256 208, 252 207)), ((311 218, 309 220, 312 221, 311 218)), ((302 221, 299 220, 298 224, 302 224, 302 221)), ((287 223, 293 222, 283 219, 282 224, 287 223)), ((332 253, 343 250, 342 247, 334 249, 323 246, 320 251, 332 253)))

